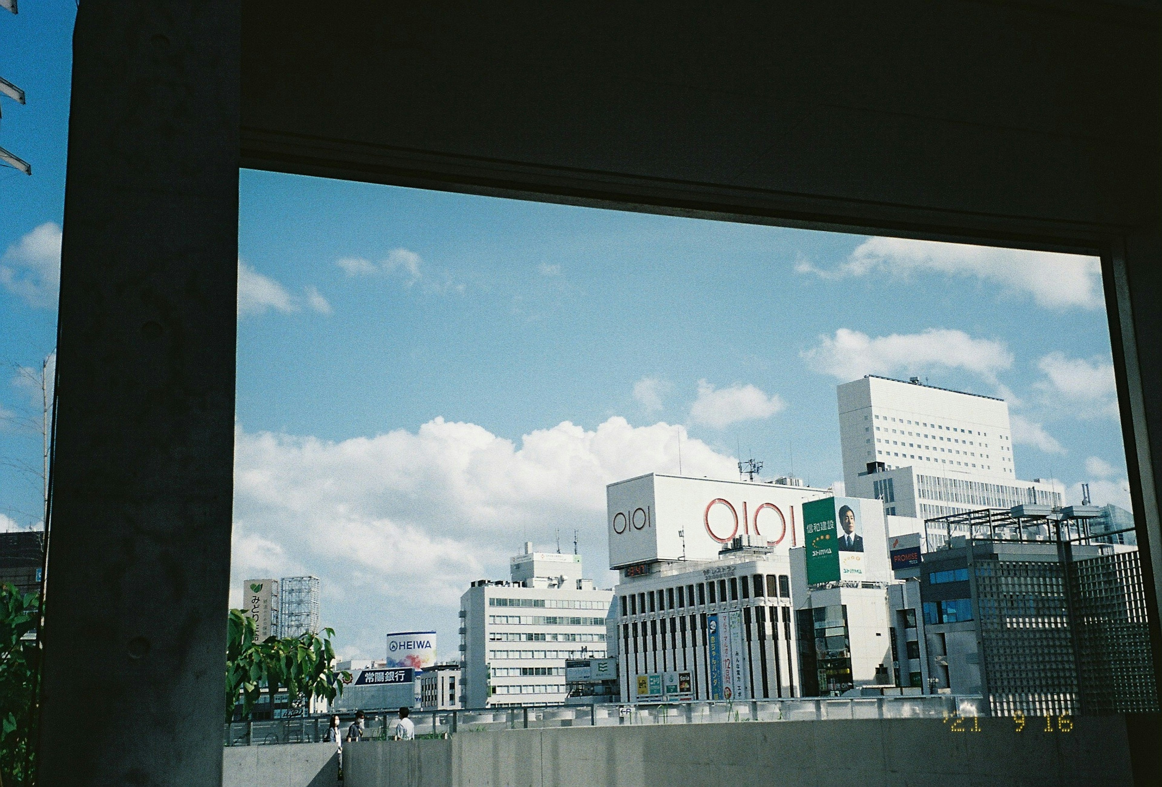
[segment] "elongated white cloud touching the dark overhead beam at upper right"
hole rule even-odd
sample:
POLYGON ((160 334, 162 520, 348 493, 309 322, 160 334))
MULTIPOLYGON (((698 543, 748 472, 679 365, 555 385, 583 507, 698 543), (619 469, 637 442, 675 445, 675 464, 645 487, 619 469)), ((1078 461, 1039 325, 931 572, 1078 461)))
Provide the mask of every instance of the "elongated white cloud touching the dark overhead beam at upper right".
POLYGON ((1102 264, 1096 257, 1048 251, 874 237, 861 243, 839 267, 824 270, 799 259, 795 270, 824 279, 876 271, 901 277, 927 272, 971 276, 1030 295, 1048 308, 1099 309, 1104 305, 1102 264))

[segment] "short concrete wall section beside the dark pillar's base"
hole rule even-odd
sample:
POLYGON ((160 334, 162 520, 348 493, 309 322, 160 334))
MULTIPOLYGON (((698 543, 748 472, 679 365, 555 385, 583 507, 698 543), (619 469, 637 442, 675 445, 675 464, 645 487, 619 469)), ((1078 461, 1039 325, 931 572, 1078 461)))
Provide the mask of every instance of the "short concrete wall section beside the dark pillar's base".
POLYGON ((222 787, 336 787, 339 784, 339 758, 333 743, 228 746, 222 751, 222 787))

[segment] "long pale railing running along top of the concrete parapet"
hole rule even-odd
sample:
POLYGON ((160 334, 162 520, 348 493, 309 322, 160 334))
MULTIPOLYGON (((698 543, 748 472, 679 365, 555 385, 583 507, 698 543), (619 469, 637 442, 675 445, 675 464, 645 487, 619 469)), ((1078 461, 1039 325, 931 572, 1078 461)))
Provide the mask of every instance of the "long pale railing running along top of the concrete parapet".
MULTIPOLYGON (((364 739, 383 739, 395 710, 366 710, 364 739)), ((744 702, 675 702, 668 704, 586 704, 486 708, 481 710, 416 710, 416 737, 462 732, 552 727, 617 727, 624 724, 713 724, 733 722, 796 722, 835 718, 947 718, 987 716, 981 696, 935 694, 923 696, 798 697, 744 702)), ((352 713, 339 714, 346 734, 352 713)), ((282 743, 321 743, 330 716, 231 722, 227 746, 282 743)))

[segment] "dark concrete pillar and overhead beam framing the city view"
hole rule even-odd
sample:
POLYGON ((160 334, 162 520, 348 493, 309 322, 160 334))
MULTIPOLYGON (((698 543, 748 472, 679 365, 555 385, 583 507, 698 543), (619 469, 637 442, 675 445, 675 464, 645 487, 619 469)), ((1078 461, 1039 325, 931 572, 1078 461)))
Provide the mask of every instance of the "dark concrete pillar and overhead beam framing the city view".
POLYGON ((1162 566, 1156 7, 498 8, 80 5, 43 785, 221 782, 239 165, 1100 253, 1162 566))

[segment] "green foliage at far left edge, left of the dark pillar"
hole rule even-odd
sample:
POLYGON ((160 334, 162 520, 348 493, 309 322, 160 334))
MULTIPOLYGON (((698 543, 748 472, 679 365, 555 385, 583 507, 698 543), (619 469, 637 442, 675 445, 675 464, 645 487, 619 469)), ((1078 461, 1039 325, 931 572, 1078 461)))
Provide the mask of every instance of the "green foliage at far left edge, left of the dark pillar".
POLYGON ((0 585, 0 780, 6 785, 31 784, 36 722, 35 693, 40 615, 36 593, 23 594, 0 585))

